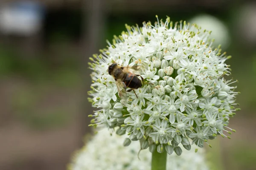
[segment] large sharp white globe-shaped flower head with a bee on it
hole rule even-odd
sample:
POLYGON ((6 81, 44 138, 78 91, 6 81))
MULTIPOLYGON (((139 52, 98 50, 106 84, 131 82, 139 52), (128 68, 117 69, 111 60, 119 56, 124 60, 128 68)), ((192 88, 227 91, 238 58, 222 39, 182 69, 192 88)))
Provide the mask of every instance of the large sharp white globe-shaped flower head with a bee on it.
POLYGON ((180 143, 189 150, 191 144, 203 147, 218 134, 230 138, 228 121, 239 110, 234 107, 236 87, 223 78, 230 74, 224 63, 230 56, 221 54, 220 46, 213 48, 210 31, 196 24, 173 24, 169 17, 157 21, 142 28, 126 26, 128 31, 114 36, 113 45, 90 58, 88 100, 98 108, 89 115, 94 117, 90 126, 119 127, 117 134, 128 133, 143 149, 169 154, 181 154, 180 143), (127 92, 125 105, 107 71, 113 62, 142 68, 137 74, 144 78, 143 86, 135 89, 137 96, 127 92))

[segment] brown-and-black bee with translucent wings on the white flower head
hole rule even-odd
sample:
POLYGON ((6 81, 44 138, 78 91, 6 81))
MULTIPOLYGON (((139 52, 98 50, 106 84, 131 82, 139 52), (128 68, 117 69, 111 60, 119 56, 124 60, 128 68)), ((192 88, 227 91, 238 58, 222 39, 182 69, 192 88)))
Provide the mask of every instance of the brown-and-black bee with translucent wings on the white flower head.
MULTIPOLYGON (((138 69, 139 67, 137 65, 125 67, 117 63, 109 65, 108 73, 115 79, 118 95, 121 99, 125 99, 126 92, 134 91, 134 89, 142 87, 144 81, 143 77, 132 72, 132 70, 137 71, 138 69), (140 77, 141 80, 138 77, 140 77), (127 88, 130 89, 126 91, 127 88)), ((135 91, 134 94, 138 98, 135 91)))

